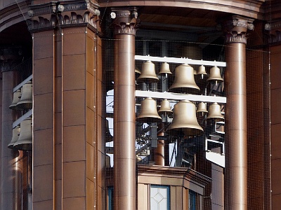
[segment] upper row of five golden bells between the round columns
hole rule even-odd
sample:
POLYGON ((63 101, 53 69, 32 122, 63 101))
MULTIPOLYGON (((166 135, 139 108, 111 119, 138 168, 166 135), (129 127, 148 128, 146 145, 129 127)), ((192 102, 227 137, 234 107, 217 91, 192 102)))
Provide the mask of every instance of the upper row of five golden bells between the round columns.
MULTIPOLYGON (((159 74, 171 74, 169 64, 164 62, 161 67, 159 74)), ((169 88, 171 92, 196 92, 200 88, 195 83, 194 75, 207 75, 205 67, 200 66, 198 71, 195 71, 192 66, 188 64, 181 64, 176 67, 174 83, 169 88)), ((155 64, 151 61, 143 63, 143 71, 141 76, 137 78, 140 83, 157 83, 159 78, 155 73, 155 64)), ((214 81, 216 83, 223 82, 221 78, 221 70, 217 66, 213 66, 210 69, 210 76, 207 78, 208 81, 214 81)))

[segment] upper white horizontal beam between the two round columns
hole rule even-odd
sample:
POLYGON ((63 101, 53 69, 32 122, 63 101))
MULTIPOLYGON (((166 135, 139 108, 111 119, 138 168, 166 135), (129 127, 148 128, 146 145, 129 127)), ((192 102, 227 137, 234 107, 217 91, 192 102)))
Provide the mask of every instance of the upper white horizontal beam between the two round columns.
POLYGON ((226 66, 226 62, 207 61, 199 59, 177 58, 177 57, 153 57, 144 55, 135 55, 135 59, 138 60, 150 60, 154 62, 167 62, 177 64, 195 64, 204 66, 226 66))

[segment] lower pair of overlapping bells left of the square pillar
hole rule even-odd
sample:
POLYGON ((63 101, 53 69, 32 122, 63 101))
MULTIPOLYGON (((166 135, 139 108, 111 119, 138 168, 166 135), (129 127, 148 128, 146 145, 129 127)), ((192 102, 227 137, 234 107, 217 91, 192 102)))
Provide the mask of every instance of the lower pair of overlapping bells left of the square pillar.
POLYGON ((19 151, 32 151, 32 118, 25 118, 13 129, 13 137, 8 148, 19 151))

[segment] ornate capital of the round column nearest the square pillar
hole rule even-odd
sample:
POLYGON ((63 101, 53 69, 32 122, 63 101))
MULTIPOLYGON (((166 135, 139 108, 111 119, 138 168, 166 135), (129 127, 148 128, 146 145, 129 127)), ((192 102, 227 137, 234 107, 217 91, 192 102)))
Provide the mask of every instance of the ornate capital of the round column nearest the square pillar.
POLYGON ((138 13, 136 8, 112 8, 110 17, 115 25, 115 34, 136 35, 138 13))

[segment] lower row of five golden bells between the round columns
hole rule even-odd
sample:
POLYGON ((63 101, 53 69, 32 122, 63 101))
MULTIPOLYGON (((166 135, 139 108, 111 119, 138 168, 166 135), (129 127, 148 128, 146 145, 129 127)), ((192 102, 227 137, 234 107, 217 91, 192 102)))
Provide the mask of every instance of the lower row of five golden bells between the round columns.
MULTIPOLYGON (((150 97, 143 100, 141 103, 141 112, 136 118, 141 123, 161 123, 162 118, 158 113, 171 114, 169 101, 164 99, 161 107, 157 112, 156 101, 150 97)), ((184 134, 185 136, 196 136, 203 132, 202 127, 197 122, 196 113, 208 113, 207 104, 201 102, 196 110, 195 104, 188 100, 178 102, 174 106, 173 121, 166 130, 169 135, 184 134)), ((209 115, 207 119, 223 120, 221 114, 221 106, 213 103, 209 106, 209 115)))

